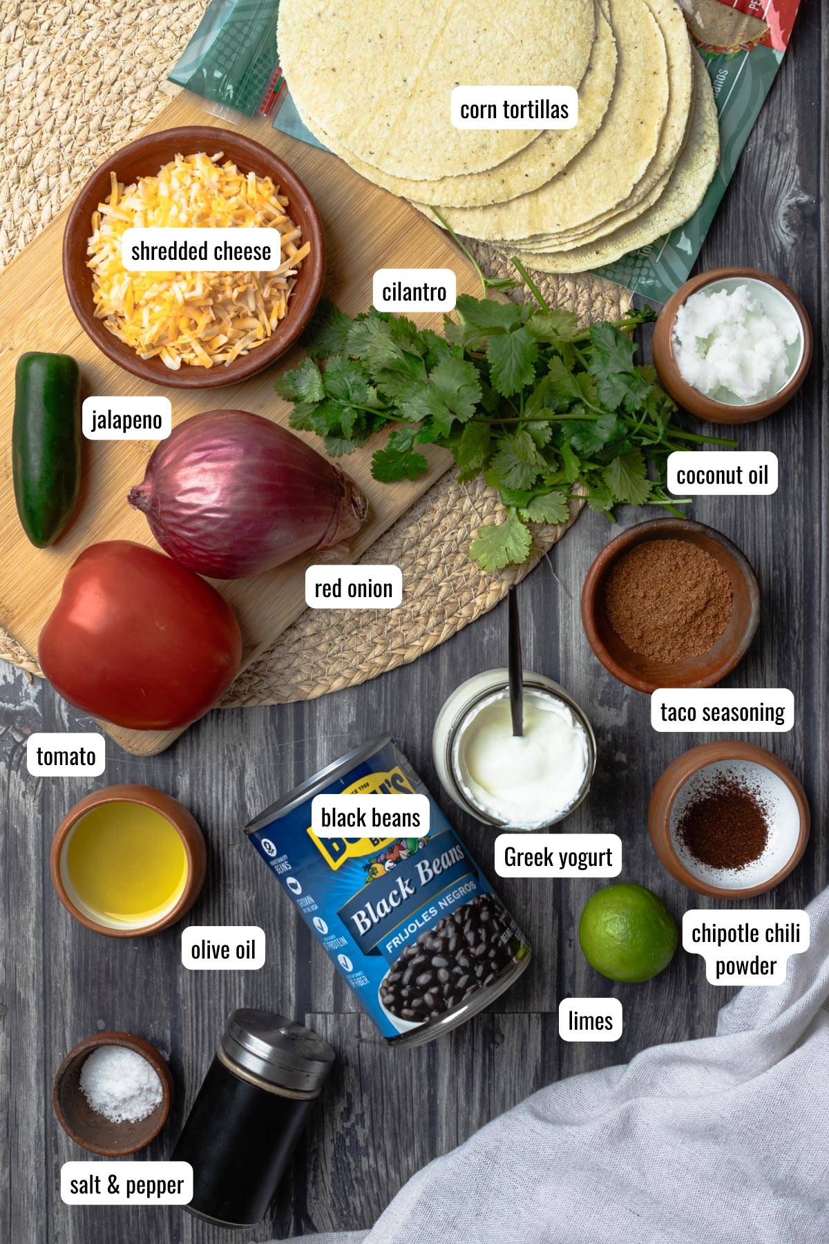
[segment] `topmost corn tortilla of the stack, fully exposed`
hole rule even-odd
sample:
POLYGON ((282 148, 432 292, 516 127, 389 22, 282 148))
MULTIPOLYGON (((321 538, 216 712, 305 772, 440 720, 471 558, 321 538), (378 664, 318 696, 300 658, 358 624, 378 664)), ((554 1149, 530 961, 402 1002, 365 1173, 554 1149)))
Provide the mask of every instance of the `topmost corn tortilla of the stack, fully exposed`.
POLYGON ((456 129, 452 87, 578 88, 595 37, 593 0, 282 0, 280 65, 297 107, 359 159, 426 180, 475 173, 538 129, 456 129))

